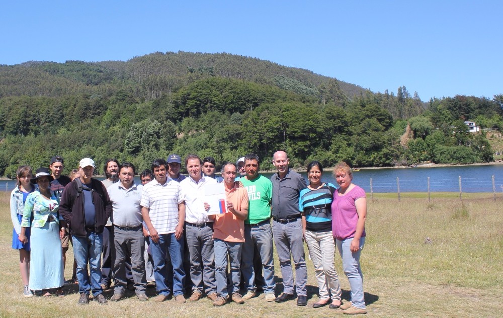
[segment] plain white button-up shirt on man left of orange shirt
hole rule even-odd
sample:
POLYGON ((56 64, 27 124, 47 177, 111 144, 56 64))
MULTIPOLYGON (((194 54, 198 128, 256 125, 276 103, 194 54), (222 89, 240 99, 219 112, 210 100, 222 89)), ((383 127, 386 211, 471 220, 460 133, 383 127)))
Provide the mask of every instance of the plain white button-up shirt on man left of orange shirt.
POLYGON ((189 223, 212 222, 208 219, 208 214, 204 208, 204 188, 208 184, 217 184, 215 179, 203 175, 199 182, 191 176, 182 180, 183 199, 185 200, 185 221, 189 223))

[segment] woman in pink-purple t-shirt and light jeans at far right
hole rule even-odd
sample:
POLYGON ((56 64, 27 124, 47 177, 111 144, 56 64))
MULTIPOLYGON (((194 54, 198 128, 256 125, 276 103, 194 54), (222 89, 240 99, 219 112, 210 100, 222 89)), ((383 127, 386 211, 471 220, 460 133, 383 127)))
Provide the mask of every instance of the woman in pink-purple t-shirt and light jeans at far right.
POLYGON ((351 302, 341 305, 341 309, 349 314, 367 313, 360 267, 360 254, 365 245, 367 198, 365 191, 351 182, 351 168, 345 162, 334 167, 333 175, 340 188, 333 193, 332 234, 351 285, 351 302))

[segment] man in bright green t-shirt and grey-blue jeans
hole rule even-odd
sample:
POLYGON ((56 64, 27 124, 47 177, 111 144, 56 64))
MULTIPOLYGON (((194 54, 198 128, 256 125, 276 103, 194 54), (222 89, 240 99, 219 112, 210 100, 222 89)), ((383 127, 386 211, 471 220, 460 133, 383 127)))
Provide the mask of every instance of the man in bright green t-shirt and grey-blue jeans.
POLYGON ((253 270, 254 251, 258 250, 264 267, 264 293, 266 301, 274 301, 273 232, 271 229, 271 181, 259 174, 259 157, 248 154, 244 157, 246 176, 240 181, 248 191, 249 211, 244 221, 244 244, 241 256, 241 272, 246 294, 243 299, 256 295, 255 273, 253 270))

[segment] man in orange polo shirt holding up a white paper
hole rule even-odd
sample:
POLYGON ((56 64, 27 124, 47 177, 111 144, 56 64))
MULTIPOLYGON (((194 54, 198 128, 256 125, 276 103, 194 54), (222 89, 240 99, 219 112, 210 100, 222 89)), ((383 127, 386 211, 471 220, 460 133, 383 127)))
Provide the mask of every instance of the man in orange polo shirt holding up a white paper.
POLYGON ((248 192, 244 187, 238 187, 234 182, 237 166, 228 162, 222 166, 222 177, 227 198, 227 211, 213 218, 213 244, 215 249, 215 278, 217 283, 217 299, 214 306, 221 306, 227 302, 227 256, 230 260, 230 274, 232 277, 232 300, 244 303, 239 294, 241 279, 240 260, 244 242, 244 220, 248 216, 248 192))

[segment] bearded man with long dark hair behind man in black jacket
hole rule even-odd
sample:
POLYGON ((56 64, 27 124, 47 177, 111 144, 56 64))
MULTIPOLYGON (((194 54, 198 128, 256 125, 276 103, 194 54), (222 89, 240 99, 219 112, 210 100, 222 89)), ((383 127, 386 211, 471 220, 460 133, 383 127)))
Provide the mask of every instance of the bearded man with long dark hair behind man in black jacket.
MULTIPOLYGON (((108 188, 115 182, 119 181, 119 161, 117 159, 107 159, 105 160, 105 166, 103 167, 105 180, 101 181, 105 188, 108 188)), ((101 267, 102 279, 101 287, 105 290, 110 287, 112 283, 112 267, 114 265, 114 260, 112 259, 114 248, 114 229, 112 227, 112 221, 110 218, 107 221, 105 229, 103 230, 103 264, 101 267)))

